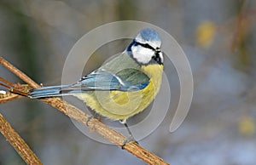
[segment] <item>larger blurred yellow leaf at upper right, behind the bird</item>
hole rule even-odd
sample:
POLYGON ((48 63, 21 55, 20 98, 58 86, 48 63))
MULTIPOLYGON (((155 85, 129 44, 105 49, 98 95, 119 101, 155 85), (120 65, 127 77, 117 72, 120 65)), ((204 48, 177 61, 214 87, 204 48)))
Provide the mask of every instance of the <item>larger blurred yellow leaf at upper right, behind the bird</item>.
POLYGON ((215 36, 216 26, 211 21, 202 22, 196 29, 196 43, 203 48, 208 48, 215 36))

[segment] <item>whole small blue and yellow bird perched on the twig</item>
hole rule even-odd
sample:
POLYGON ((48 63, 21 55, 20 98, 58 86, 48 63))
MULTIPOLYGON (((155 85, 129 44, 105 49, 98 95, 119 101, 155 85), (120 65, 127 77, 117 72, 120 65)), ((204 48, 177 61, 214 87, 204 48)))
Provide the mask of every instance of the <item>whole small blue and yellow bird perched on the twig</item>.
POLYGON ((78 82, 34 88, 28 91, 28 97, 73 95, 101 117, 123 123, 132 137, 127 119, 147 108, 160 91, 164 69, 160 47, 160 34, 145 28, 125 51, 78 82))

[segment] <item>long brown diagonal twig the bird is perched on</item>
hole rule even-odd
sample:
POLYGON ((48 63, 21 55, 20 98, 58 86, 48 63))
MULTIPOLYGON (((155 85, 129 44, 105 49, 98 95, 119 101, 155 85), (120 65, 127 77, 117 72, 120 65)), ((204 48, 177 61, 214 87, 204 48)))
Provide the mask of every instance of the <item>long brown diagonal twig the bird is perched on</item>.
MULTIPOLYGON (((33 82, 31 78, 27 77, 23 72, 15 68, 15 66, 11 65, 2 57, 0 57, 0 64, 4 65, 6 68, 9 69, 9 71, 15 73, 17 77, 20 77, 20 79, 22 79, 33 88, 40 87, 37 83, 33 82)), ((97 119, 93 118, 88 121, 88 118, 90 117, 89 115, 85 114, 84 111, 79 110, 75 106, 61 100, 60 98, 45 98, 40 100, 48 103, 49 105, 52 105, 68 117, 72 117, 76 121, 83 123, 85 126, 88 126, 90 130, 94 130, 96 133, 101 134, 104 138, 108 139, 113 144, 122 146, 125 143, 126 138, 124 135, 119 134, 112 128, 109 128, 107 125, 98 121, 97 119)), ((168 164, 162 158, 160 158, 159 156, 155 156, 153 153, 147 151, 137 143, 127 143, 123 147, 123 149, 131 152, 132 155, 137 156, 148 164, 168 164)))

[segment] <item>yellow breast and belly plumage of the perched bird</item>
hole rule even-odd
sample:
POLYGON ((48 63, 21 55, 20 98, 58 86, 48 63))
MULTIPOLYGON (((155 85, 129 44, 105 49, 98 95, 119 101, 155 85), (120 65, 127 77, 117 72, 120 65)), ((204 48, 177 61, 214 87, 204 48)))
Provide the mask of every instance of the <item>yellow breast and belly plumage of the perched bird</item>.
POLYGON ((160 90, 163 65, 146 65, 142 70, 150 77, 150 82, 140 91, 95 91, 75 96, 103 117, 125 120, 143 111, 160 90))

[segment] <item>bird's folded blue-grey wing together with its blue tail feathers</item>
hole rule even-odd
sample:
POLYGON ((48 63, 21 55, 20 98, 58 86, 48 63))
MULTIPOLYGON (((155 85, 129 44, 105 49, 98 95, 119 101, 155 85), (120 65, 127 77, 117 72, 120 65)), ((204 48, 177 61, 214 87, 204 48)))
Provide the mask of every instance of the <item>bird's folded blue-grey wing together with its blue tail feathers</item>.
POLYGON ((31 98, 45 98, 69 94, 79 94, 95 90, 137 91, 147 87, 149 78, 142 71, 125 69, 113 74, 99 69, 82 77, 78 83, 63 86, 34 88, 29 91, 31 98))

